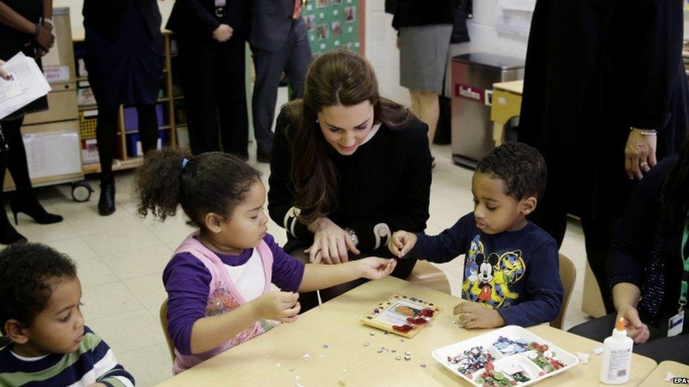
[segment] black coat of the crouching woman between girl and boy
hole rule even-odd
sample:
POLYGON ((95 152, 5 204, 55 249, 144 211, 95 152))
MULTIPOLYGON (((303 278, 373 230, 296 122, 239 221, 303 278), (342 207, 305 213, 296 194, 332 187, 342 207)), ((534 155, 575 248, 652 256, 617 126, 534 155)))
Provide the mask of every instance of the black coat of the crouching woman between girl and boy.
MULTIPOLYGON (((288 140, 292 125, 283 109, 275 125, 268 179, 270 218, 282 227, 285 227, 286 215, 292 209, 295 192, 290 177, 293 149, 288 140)), ((381 125, 378 133, 351 156, 341 156, 332 149, 340 182, 338 208, 328 219, 357 233, 362 254, 375 252, 390 256, 385 238, 378 237, 376 243, 374 229, 379 229, 381 223, 385 223, 392 233, 398 230, 420 233, 426 229, 431 192, 431 152, 427 132, 428 125, 414 119, 407 128, 397 130, 381 125)), ((299 221, 294 221, 294 227, 288 224, 286 228, 288 241, 285 251, 291 252, 313 243, 313 234, 299 221)))

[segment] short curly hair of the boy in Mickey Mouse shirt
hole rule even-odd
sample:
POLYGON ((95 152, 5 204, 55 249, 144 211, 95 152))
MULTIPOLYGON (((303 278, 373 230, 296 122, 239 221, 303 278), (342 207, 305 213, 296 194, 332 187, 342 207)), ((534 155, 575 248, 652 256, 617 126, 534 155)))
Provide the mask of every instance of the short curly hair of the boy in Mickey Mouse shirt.
POLYGON ((522 142, 506 142, 487 154, 476 171, 505 182, 505 195, 517 200, 543 197, 548 169, 541 153, 522 142))

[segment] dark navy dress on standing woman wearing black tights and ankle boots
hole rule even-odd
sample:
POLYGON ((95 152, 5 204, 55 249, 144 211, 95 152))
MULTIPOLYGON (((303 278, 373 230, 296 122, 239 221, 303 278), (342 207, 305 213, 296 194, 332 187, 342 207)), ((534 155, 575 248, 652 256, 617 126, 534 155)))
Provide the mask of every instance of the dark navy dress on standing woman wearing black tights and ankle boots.
POLYGON ((134 1, 128 1, 114 39, 84 20, 84 61, 98 104, 154 104, 162 87, 162 35, 151 35, 134 1))

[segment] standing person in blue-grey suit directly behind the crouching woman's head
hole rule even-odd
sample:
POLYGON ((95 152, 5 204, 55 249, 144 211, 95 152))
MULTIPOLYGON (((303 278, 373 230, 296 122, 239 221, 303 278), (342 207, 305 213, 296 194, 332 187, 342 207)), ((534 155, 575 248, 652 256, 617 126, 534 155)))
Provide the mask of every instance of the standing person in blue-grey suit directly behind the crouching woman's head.
POLYGON ((284 70, 292 87, 292 99, 304 94, 306 68, 311 61, 306 23, 301 18, 302 0, 251 1, 251 44, 256 82, 253 85, 253 133, 258 145, 256 159, 270 162, 272 119, 277 86, 284 70))

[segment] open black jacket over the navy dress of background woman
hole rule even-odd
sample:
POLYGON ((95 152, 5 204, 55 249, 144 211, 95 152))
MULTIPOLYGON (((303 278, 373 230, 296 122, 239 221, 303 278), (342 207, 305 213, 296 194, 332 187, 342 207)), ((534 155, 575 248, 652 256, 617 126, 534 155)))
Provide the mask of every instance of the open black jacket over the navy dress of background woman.
POLYGON ((139 8, 151 35, 153 37, 160 35, 162 17, 155 0, 84 0, 82 10, 84 24, 102 35, 114 39, 121 27, 127 1, 136 1, 136 6, 139 8))

